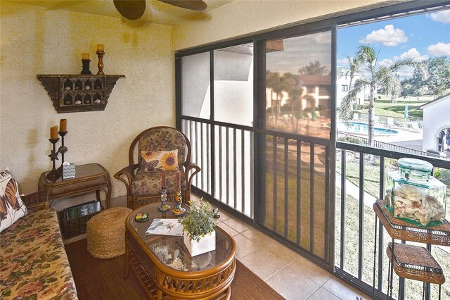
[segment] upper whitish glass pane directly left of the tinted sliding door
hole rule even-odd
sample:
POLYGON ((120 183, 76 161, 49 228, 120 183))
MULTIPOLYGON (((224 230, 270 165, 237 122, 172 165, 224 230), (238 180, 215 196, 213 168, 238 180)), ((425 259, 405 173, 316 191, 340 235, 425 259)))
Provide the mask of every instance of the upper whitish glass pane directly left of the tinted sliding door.
POLYGON ((214 51, 214 119, 252 125, 253 44, 214 51))

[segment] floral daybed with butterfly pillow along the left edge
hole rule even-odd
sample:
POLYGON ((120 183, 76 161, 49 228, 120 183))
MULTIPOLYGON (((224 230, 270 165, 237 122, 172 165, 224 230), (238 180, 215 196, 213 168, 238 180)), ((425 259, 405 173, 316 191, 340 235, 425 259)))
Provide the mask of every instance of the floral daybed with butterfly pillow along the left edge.
POLYGON ((56 211, 42 209, 45 193, 20 199, 15 180, 5 174, 7 169, 0 172, 0 299, 78 299, 56 211))

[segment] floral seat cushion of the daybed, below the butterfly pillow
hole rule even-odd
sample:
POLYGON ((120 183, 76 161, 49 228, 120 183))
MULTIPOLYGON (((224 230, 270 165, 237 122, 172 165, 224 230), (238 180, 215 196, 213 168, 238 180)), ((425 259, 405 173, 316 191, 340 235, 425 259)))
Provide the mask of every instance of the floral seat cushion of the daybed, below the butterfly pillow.
POLYGON ((0 299, 78 299, 53 209, 1 232, 0 249, 0 299))

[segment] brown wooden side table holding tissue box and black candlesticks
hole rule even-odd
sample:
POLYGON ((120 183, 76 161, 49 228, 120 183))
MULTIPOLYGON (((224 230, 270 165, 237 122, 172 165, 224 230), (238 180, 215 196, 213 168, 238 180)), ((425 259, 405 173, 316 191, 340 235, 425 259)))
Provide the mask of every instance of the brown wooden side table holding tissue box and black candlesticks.
POLYGON ((75 166, 75 178, 49 180, 46 175, 50 171, 41 174, 38 182, 39 191, 45 190, 47 207, 55 201, 67 196, 75 196, 86 192, 96 191, 96 199, 100 201, 100 190, 105 192, 106 208, 110 207, 111 180, 108 170, 98 163, 75 166))

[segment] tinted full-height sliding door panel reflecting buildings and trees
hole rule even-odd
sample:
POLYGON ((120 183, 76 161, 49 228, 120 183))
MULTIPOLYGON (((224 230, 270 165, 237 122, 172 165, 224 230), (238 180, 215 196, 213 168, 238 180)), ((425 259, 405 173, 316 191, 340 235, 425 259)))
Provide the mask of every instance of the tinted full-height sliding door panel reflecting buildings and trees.
POLYGON ((256 148, 257 222, 330 269, 332 44, 331 30, 259 44, 256 148))

